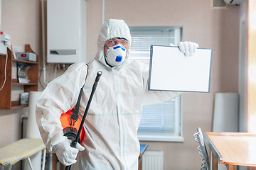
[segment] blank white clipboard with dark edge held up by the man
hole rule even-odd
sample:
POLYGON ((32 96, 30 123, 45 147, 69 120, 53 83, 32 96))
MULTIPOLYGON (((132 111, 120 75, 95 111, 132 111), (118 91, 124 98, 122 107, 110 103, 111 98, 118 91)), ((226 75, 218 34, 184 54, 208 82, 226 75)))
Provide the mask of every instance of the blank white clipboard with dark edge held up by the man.
POLYGON ((209 93, 212 55, 208 48, 186 57, 178 47, 151 45, 149 91, 209 93))

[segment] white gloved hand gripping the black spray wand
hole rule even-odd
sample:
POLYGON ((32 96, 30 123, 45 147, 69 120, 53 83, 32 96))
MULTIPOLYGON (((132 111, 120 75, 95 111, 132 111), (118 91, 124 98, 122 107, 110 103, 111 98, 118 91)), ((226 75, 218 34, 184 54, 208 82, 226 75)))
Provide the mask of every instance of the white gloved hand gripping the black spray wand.
POLYGON ((53 146, 56 156, 65 166, 75 164, 75 162, 77 162, 75 158, 77 157, 78 152, 85 149, 85 147, 82 147, 79 143, 77 144, 76 148, 70 147, 70 143, 71 140, 67 139, 53 146))

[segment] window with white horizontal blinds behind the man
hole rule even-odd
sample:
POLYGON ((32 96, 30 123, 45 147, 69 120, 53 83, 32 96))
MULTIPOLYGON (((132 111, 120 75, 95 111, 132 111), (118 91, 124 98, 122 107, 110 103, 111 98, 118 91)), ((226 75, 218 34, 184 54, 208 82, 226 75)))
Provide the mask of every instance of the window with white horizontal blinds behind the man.
MULTIPOLYGON (((150 45, 177 45, 181 41, 181 27, 130 27, 132 35, 129 62, 140 60, 149 64, 150 45)), ((183 142, 182 96, 171 101, 145 106, 139 124, 139 140, 183 142), (156 114, 157 113, 157 114, 156 114)))

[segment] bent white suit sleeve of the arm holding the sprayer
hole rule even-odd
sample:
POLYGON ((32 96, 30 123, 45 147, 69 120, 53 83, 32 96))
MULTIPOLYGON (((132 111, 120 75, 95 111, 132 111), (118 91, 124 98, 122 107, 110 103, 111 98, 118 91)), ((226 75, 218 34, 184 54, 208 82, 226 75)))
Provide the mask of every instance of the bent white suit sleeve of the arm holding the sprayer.
POLYGON ((65 140, 60 115, 75 107, 87 74, 87 65, 71 65, 60 77, 51 81, 38 97, 36 122, 47 149, 65 140))

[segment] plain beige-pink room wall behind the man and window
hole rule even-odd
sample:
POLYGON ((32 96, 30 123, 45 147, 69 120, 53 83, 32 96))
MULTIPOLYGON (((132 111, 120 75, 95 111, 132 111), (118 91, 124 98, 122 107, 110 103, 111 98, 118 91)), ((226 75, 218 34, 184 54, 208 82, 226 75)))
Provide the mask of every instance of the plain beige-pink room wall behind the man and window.
MULTIPOLYGON (((215 93, 238 93, 239 18, 241 6, 211 8, 211 0, 129 0, 105 2, 105 19, 122 18, 128 26, 183 26, 183 40, 213 48, 210 93, 183 95, 184 142, 148 142, 149 150, 164 151, 164 169, 199 169, 201 157, 193 139, 196 128, 212 130, 215 93), (186 164, 184 163, 186 162, 186 164)), ((11 44, 32 49, 41 57, 41 1, 2 0, 2 30, 11 44)), ((102 0, 87 1, 87 61, 95 57, 102 24, 102 0)), ((41 59, 42 61, 42 59, 41 59)), ((42 62, 41 62, 42 64, 42 62)), ((48 74, 54 65, 48 64, 48 74)), ((0 111, 0 147, 21 137, 19 118, 27 108, 0 111), (6 120, 9 120, 7 122, 6 120)), ((146 142, 142 142, 146 143, 146 142)))

